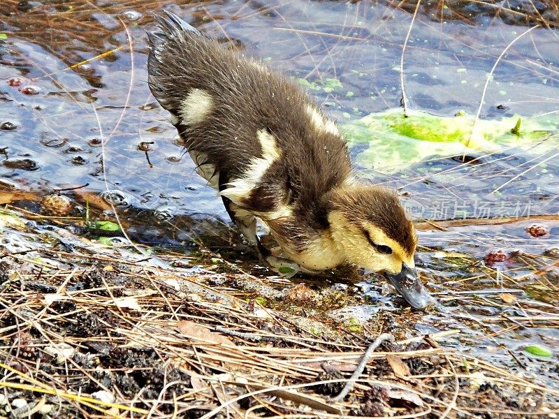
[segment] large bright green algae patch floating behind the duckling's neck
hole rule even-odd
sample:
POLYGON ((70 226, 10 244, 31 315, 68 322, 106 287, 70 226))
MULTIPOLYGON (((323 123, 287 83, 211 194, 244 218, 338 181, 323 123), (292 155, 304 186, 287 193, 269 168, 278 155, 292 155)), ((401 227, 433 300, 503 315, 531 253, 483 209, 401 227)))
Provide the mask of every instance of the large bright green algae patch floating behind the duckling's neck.
MULTIPOLYGON (((440 117, 401 108, 367 115, 342 124, 350 147, 367 143, 357 156, 365 168, 391 173, 430 157, 459 156, 470 152, 498 152, 508 147, 529 149, 544 143, 559 129, 550 115, 522 117, 514 115, 488 120, 457 112, 440 117)), ((547 147, 553 147, 550 144, 547 147)), ((538 148, 538 152, 541 152, 538 148)))

